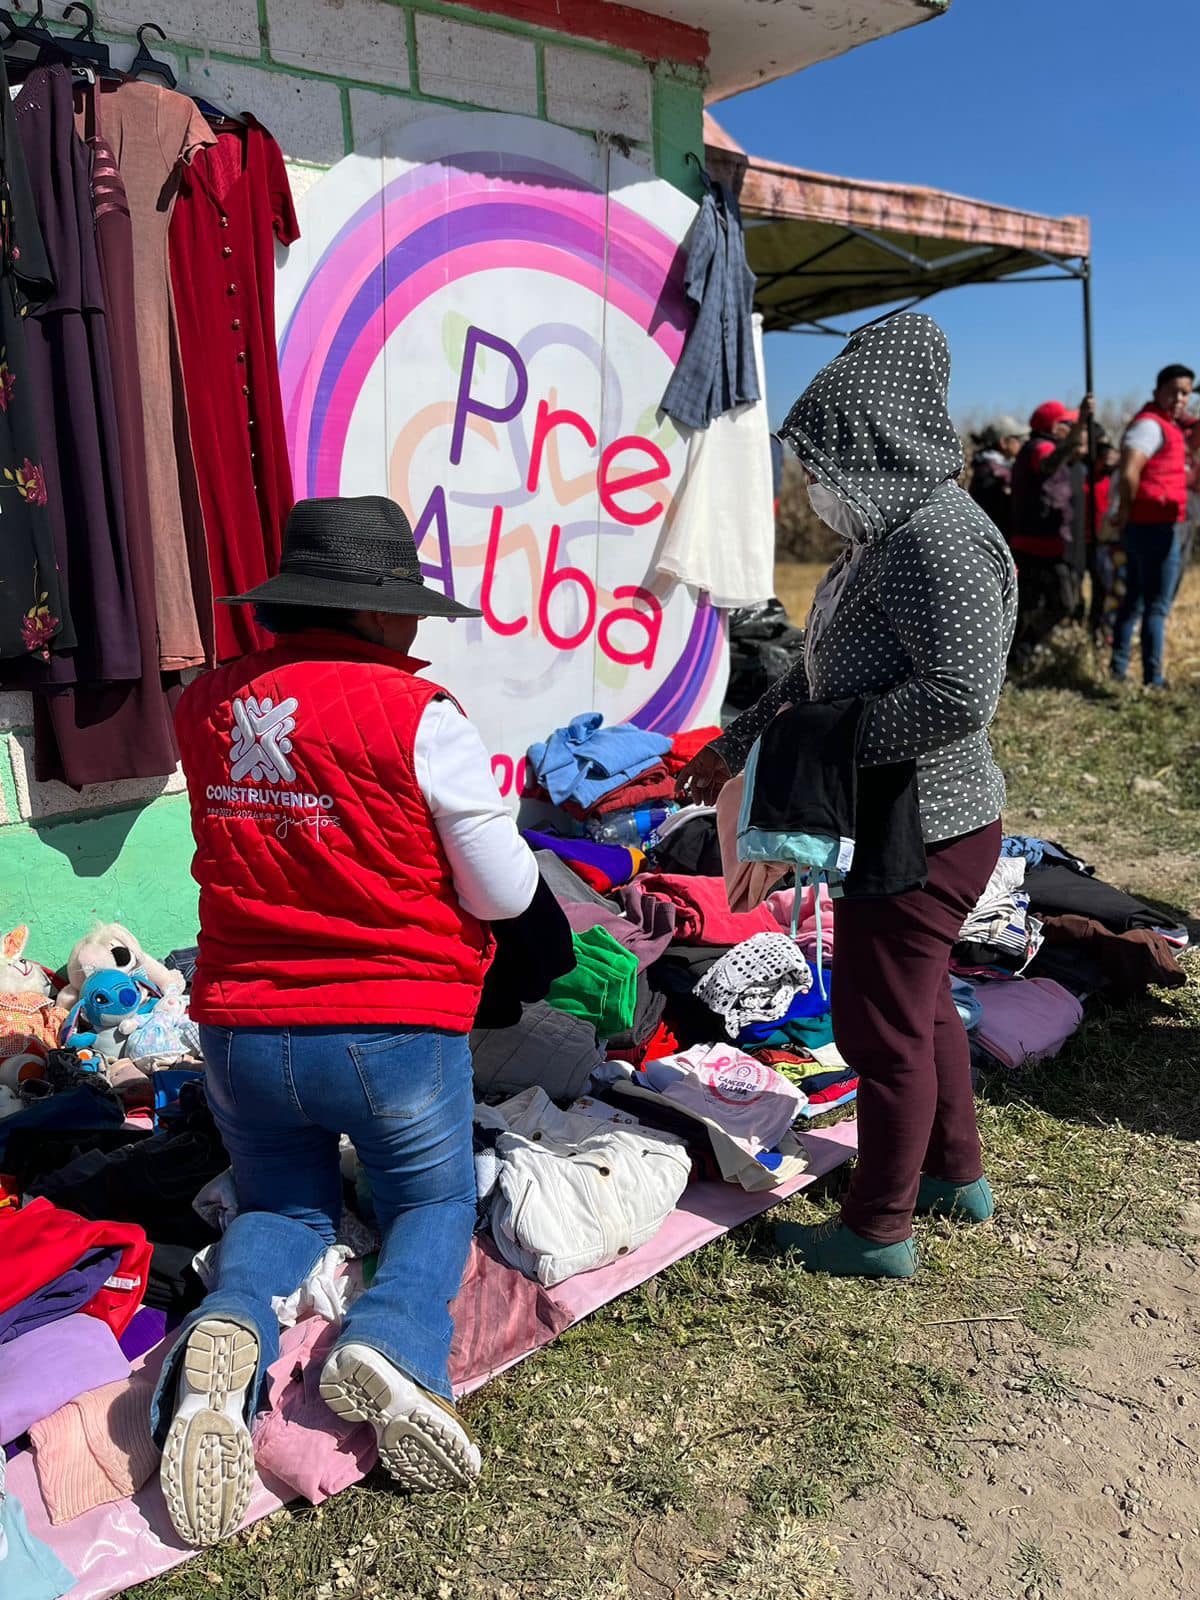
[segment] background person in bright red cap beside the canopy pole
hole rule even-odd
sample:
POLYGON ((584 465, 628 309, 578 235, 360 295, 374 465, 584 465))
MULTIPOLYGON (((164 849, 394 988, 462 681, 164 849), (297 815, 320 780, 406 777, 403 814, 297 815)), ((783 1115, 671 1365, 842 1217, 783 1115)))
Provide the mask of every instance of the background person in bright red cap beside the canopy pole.
POLYGON ((1078 462, 1088 448, 1088 395, 1078 411, 1046 400, 1029 419, 1029 438, 1013 462, 1008 542, 1018 570, 1014 659, 1027 664, 1080 603, 1082 533, 1078 462))

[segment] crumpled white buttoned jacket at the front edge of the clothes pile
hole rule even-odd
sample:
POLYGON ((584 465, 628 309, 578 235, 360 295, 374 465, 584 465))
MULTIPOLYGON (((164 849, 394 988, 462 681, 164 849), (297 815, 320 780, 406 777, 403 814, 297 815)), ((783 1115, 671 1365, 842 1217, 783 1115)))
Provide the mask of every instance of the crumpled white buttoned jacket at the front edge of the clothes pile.
POLYGON ((674 1134, 558 1110, 539 1086, 475 1117, 507 1130, 496 1141, 496 1246, 547 1288, 651 1240, 691 1173, 674 1134))

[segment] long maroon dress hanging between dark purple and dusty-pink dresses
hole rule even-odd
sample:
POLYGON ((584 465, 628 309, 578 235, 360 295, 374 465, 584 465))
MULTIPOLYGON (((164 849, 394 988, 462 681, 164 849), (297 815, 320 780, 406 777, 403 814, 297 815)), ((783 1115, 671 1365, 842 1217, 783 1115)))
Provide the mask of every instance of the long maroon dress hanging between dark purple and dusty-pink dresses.
POLYGON ((154 530, 146 477, 138 325, 133 307, 133 222, 112 147, 98 126, 101 98, 86 93, 83 133, 91 149, 96 250, 117 403, 125 531, 138 613, 141 675, 131 683, 82 683, 34 699, 37 776, 80 787, 174 771, 174 720, 158 672, 154 603, 154 530))

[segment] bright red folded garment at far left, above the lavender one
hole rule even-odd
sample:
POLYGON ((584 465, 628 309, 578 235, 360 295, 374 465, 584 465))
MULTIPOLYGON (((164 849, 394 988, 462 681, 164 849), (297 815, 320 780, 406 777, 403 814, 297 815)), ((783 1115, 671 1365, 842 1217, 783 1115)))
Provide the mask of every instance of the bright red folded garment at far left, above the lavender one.
POLYGON ((142 1302, 152 1248, 134 1222, 88 1222, 50 1200, 0 1210, 0 1310, 29 1299, 93 1250, 120 1250, 120 1266, 80 1310, 120 1336, 142 1302))

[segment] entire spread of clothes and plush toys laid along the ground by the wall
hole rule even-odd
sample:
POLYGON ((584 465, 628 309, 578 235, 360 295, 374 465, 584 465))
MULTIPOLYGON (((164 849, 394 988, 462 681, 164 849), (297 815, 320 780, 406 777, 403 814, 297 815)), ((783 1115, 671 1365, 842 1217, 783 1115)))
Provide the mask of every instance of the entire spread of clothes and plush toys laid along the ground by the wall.
MULTIPOLYGON (((539 747, 557 752, 546 781, 589 803, 581 784, 618 794, 702 742, 654 736, 667 747, 646 750, 622 734, 597 750, 602 725, 573 726, 584 736, 539 747)), ((496 925, 470 1037, 478 1219, 453 1307, 456 1381, 560 1331, 570 1312, 550 1291, 654 1240, 690 1184, 771 1194, 800 1178, 798 1130, 858 1093, 832 1037, 827 886, 784 882, 731 910, 728 808, 669 803, 653 837, 621 843, 565 808, 544 814, 534 899, 496 925)), ((957 950, 976 1059, 1048 1059, 1086 997, 1182 984, 1182 942, 1170 917, 1059 846, 1006 840, 957 950)), ((22 928, 0 942, 0 1445, 27 1453, 22 1494, 37 1485, 45 1533, 154 1477, 165 1341, 202 1299, 238 1197, 187 1016, 195 952, 157 962, 104 925, 51 971, 26 946, 22 928)), ((336 1246, 275 1304, 280 1357, 254 1424, 259 1467, 314 1502, 376 1451, 373 1430, 333 1419, 317 1392, 379 1248, 346 1141, 342 1178, 336 1246)), ((18 1573, 42 1590, 14 1592, 70 1586, 0 1482, 0 1578, 18 1573)))

